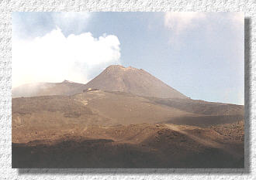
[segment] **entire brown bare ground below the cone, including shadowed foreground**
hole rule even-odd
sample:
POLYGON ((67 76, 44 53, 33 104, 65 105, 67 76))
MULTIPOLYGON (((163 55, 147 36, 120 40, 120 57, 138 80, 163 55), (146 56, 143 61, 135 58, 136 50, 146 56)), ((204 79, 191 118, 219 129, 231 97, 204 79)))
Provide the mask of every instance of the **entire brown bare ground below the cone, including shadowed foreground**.
POLYGON ((244 168, 243 110, 101 90, 15 98, 12 168, 244 168))

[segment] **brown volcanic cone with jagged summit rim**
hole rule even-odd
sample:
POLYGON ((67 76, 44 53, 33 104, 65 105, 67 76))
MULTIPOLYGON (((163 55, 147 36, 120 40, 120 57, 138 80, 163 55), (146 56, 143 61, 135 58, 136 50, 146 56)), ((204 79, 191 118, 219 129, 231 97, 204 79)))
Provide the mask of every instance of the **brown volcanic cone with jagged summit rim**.
POLYGON ((87 88, 133 93, 144 97, 187 98, 178 90, 134 67, 112 65, 85 84, 87 88))

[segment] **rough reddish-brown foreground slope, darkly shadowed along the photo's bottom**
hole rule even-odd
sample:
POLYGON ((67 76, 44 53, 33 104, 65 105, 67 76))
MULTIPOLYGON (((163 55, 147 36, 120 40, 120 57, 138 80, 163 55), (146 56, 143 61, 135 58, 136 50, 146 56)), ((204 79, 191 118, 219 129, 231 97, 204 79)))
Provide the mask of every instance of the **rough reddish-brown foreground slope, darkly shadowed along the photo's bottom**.
POLYGON ((13 141, 12 168, 244 167, 243 140, 233 137, 227 143, 213 128, 133 124, 84 130, 44 130, 43 140, 13 141))

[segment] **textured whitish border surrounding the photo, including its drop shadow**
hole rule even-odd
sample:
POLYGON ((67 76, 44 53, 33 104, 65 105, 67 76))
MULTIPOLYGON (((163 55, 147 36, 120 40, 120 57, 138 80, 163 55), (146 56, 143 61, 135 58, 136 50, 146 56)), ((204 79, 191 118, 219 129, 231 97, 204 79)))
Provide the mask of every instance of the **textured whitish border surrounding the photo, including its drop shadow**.
POLYGON ((256 2, 255 1, 0 1, 1 179, 256 179, 256 2), (22 11, 201 11, 245 15, 244 169, 12 169, 12 12, 22 11))

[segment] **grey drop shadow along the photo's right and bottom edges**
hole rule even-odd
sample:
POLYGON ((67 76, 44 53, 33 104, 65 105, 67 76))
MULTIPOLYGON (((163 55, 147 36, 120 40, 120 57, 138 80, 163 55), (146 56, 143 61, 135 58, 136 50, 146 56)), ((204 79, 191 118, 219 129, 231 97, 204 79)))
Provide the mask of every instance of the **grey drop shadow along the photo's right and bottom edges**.
POLYGON ((19 175, 83 174, 250 174, 251 19, 244 19, 244 168, 18 168, 19 175))

